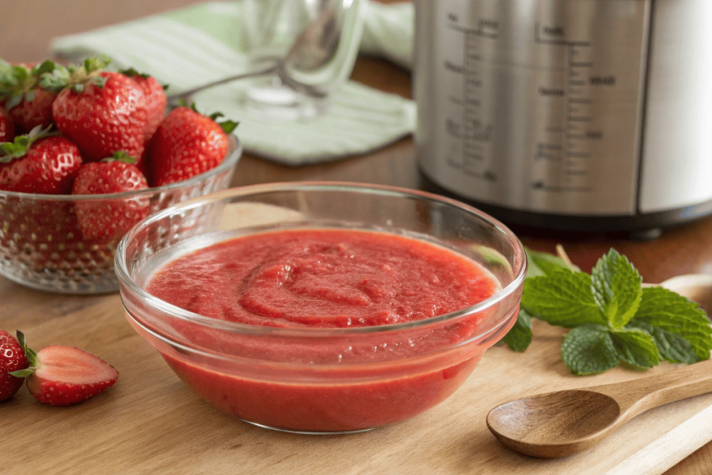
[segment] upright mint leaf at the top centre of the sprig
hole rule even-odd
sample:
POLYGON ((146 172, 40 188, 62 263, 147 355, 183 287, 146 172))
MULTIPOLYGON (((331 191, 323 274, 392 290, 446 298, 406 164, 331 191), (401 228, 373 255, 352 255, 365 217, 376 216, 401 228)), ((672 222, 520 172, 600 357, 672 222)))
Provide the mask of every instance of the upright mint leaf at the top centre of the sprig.
POLYGON ((598 260, 591 271, 593 298, 613 328, 633 318, 642 296, 642 277, 615 249, 598 260))

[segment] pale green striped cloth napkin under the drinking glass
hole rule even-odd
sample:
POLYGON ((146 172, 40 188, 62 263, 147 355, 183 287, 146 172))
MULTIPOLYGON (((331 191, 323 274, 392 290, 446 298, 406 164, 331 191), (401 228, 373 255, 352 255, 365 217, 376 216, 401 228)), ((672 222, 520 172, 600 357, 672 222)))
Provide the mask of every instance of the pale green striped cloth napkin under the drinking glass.
MULTIPOLYGON (((106 54, 112 68, 133 66, 171 92, 248 71, 239 50, 238 1, 216 1, 169 11, 130 23, 56 38, 53 53, 70 61, 106 54)), ((379 4, 365 9, 361 53, 411 66, 413 5, 379 4)), ((354 81, 335 90, 327 113, 312 120, 266 120, 245 110, 239 98, 245 83, 235 81, 194 95, 199 110, 219 110, 240 122, 236 135, 245 150, 287 165, 305 165, 377 150, 413 132, 412 100, 354 81)))

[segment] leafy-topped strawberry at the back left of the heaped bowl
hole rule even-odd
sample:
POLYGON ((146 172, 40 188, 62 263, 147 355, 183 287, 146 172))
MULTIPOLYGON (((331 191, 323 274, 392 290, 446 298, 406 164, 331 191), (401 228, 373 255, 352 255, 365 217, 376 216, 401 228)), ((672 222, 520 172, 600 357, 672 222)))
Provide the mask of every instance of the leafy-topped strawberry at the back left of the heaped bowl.
POLYGON ((52 103, 61 85, 43 83, 43 78, 59 66, 44 61, 34 66, 24 64, 9 66, 0 73, 0 104, 4 105, 16 130, 26 134, 41 125, 52 125, 52 103))

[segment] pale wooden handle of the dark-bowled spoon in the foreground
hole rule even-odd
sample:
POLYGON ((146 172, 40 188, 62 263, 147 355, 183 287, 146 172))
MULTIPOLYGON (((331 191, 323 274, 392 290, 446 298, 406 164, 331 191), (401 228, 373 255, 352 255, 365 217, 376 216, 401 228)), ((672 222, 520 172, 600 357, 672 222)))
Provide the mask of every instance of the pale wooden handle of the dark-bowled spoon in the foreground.
POLYGON ((661 375, 587 388, 616 400, 628 417, 648 409, 712 392, 712 360, 661 375))

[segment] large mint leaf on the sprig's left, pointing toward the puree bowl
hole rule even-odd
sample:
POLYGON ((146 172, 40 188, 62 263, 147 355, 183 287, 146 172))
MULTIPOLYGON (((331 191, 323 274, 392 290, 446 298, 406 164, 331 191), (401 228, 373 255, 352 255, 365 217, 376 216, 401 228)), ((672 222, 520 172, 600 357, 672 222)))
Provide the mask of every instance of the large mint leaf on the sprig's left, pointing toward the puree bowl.
POLYGON ((566 328, 585 323, 607 324, 591 293, 591 276, 557 269, 524 281, 522 306, 531 315, 566 328))

